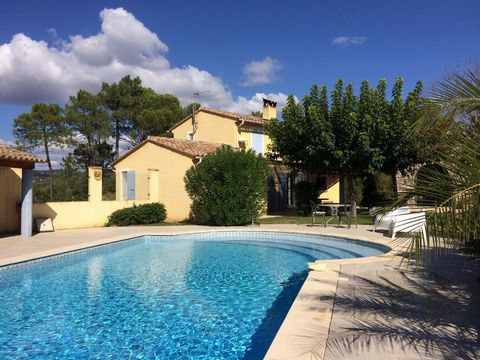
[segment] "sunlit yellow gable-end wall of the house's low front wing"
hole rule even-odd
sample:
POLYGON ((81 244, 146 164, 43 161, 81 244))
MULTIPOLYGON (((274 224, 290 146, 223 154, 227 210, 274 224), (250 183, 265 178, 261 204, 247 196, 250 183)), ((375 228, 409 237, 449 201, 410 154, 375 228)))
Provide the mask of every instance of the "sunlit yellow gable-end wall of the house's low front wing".
POLYGON ((192 165, 191 158, 147 142, 115 165, 117 200, 122 196, 122 170, 135 171, 135 192, 145 198, 149 186, 155 186, 153 179, 149 182, 149 171, 158 170, 158 199, 150 200, 165 205, 167 220, 184 220, 190 212, 190 198, 183 178, 192 165))

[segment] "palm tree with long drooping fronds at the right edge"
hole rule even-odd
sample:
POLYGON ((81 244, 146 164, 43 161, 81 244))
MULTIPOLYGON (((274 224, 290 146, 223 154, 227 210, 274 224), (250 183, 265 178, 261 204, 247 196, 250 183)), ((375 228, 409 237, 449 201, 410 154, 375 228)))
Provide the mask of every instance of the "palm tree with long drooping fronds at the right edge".
POLYGON ((429 199, 427 236, 410 238, 407 254, 457 248, 480 254, 480 72, 467 70, 437 82, 424 103, 424 114, 413 129, 420 135, 432 128, 447 132, 434 151, 433 166, 422 171, 398 200, 429 199), (413 240, 412 240, 413 239, 413 240))

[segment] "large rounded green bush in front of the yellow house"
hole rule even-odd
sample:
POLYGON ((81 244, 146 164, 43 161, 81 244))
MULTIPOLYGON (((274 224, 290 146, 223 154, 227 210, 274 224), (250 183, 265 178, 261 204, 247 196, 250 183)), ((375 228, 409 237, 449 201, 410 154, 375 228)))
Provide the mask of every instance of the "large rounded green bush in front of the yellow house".
POLYGON ((218 149, 191 167, 185 188, 192 199, 193 220, 209 225, 245 225, 265 210, 267 161, 254 151, 218 149))

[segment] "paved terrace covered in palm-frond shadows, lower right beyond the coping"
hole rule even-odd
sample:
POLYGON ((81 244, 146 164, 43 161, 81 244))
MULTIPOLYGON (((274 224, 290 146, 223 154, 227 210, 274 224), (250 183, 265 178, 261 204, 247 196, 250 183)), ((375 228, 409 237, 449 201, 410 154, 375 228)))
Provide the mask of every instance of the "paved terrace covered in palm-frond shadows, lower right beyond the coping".
POLYGON ((419 273, 342 266, 325 359, 480 359, 479 275, 458 254, 419 273))

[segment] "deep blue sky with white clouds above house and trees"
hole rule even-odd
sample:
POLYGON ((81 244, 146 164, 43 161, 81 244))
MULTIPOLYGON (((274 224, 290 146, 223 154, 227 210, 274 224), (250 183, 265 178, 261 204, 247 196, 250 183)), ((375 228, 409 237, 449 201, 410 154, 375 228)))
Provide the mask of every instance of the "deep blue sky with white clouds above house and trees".
POLYGON ((478 0, 6 1, 0 142, 35 102, 130 74, 183 105, 249 113, 337 78, 427 84, 480 55, 478 0))

